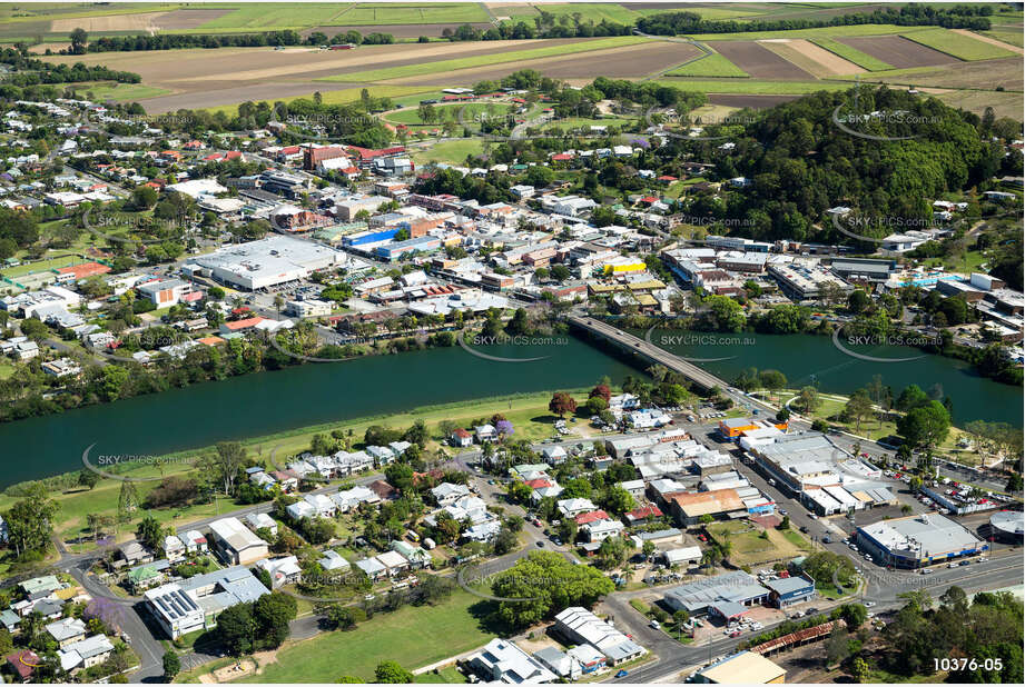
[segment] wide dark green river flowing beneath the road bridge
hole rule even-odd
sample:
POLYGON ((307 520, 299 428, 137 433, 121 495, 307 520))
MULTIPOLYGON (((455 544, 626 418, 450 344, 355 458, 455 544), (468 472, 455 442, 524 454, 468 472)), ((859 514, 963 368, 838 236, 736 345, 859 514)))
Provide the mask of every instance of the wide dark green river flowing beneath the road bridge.
MULTIPOLYGON (((716 337, 711 342, 663 338, 684 333, 656 330, 651 340, 692 358, 730 358, 699 362, 727 380, 743 368, 775 368, 787 376, 791 387, 816 381, 824 392, 846 394, 865 386, 873 375, 881 375, 895 394, 909 384, 926 390, 942 385, 954 399, 958 424, 985 419, 1022 425, 1022 390, 978 377, 958 360, 925 356, 911 362, 866 362, 837 350, 829 337, 811 335, 700 335, 716 337), (732 342, 723 345, 722 338, 732 342)), ((162 455, 416 407, 584 387, 605 375, 619 384, 627 375, 637 374, 620 359, 574 337, 544 346, 510 344, 481 350, 512 358, 548 357, 496 362, 454 347, 309 364, 7 422, 0 425, 4 467, 0 487, 77 470, 82 451, 91 444, 96 444, 95 456, 162 455)), ((914 349, 873 352, 918 355, 914 349)), ((490 410, 481 409, 482 415, 490 410)))

